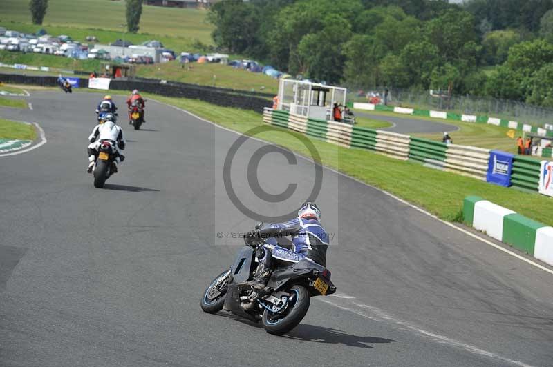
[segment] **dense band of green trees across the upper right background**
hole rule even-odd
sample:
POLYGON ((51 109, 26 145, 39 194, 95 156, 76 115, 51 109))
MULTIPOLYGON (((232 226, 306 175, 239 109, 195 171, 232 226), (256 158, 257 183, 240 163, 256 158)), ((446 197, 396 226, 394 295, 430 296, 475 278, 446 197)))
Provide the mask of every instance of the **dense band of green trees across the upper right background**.
POLYGON ((550 0, 223 0, 208 19, 219 50, 292 75, 553 106, 550 0))

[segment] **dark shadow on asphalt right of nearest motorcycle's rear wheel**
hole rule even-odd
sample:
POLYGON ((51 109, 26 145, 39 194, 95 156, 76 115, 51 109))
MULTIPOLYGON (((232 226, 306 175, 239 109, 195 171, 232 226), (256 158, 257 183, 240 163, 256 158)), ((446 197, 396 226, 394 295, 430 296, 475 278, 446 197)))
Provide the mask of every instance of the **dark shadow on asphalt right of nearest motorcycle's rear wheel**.
POLYGON ((325 328, 309 324, 299 324, 290 333, 283 335, 290 339, 303 341, 313 341, 315 343, 344 344, 346 346, 356 346, 358 348, 374 348, 368 344, 393 343, 395 340, 381 337, 362 337, 358 335, 346 334, 341 330, 325 328))

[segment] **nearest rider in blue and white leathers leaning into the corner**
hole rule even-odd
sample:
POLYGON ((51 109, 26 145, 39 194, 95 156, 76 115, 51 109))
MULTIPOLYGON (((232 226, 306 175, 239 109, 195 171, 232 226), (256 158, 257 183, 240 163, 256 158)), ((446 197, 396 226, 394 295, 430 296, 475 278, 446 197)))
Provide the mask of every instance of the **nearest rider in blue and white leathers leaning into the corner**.
POLYGON ((256 290, 265 288, 274 264, 289 266, 302 259, 308 259, 321 266, 326 266, 326 250, 329 237, 320 223, 321 212, 317 204, 307 202, 298 210, 298 216, 280 224, 268 224, 247 233, 246 239, 252 244, 261 239, 269 239, 272 244, 258 248, 256 256, 259 265, 254 272, 254 279, 248 281, 256 290), (292 237, 293 251, 278 246, 274 239, 292 237), (272 237, 272 238, 271 238, 272 237))

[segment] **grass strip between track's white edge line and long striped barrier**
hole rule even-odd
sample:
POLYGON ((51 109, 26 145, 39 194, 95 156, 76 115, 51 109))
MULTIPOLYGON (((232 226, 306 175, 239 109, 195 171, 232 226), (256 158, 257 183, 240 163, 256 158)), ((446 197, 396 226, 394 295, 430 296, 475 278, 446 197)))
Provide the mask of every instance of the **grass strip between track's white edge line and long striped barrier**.
MULTIPOLYGON (((251 128, 263 125, 261 113, 257 112, 218 107, 194 99, 156 95, 150 97, 189 110, 238 132, 247 132, 251 128)), ((299 146, 297 141, 291 141, 288 134, 275 133, 279 130, 281 129, 274 128, 273 132, 265 132, 257 137, 309 157, 307 149, 299 146)), ((442 219, 460 220, 462 200, 468 195, 478 195, 521 215, 553 225, 550 215, 552 198, 487 184, 451 172, 433 170, 418 163, 400 161, 367 150, 341 148, 315 139, 312 141, 326 166, 402 197, 442 219)))

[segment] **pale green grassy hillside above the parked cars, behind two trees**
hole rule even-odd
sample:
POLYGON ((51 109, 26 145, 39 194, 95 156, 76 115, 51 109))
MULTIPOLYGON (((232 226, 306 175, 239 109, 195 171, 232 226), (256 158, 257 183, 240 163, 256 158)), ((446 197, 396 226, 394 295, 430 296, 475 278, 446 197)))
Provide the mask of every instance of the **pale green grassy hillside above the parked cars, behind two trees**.
MULTIPOLYGON (((101 43, 122 38, 126 23, 125 2, 109 0, 50 0, 42 26, 31 23, 28 1, 0 0, 0 25, 21 32, 67 34, 76 41, 95 35, 101 43), (100 29, 101 28, 101 29, 100 29)), ((185 51, 194 48, 195 40, 212 44, 213 26, 205 21, 206 10, 143 6, 138 34, 126 34, 125 39, 141 43, 158 39, 167 48, 185 51)))

